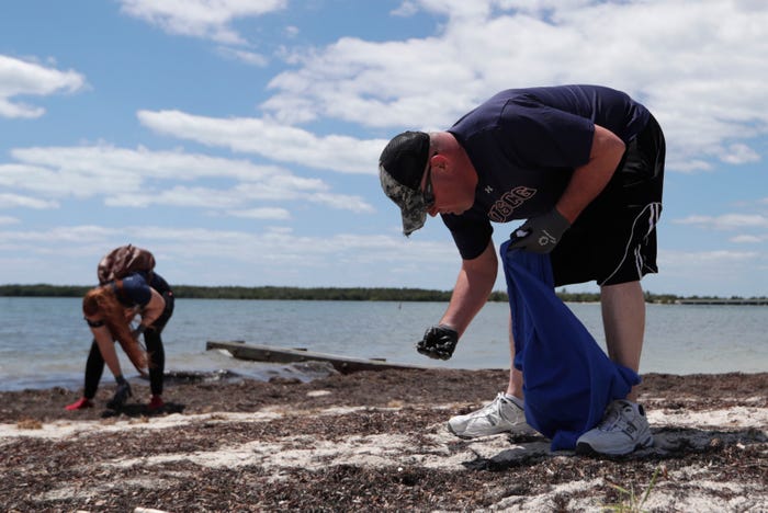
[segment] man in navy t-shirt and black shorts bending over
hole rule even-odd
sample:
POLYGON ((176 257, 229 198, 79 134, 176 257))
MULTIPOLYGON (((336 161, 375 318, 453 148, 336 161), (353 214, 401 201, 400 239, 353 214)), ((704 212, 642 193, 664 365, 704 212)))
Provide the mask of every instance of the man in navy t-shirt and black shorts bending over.
MULTIPOLYGON (((449 358, 496 281, 492 223, 527 219, 510 248, 549 254, 555 286, 600 286, 610 358, 635 373, 645 327, 640 280, 656 273, 665 141, 648 110, 599 86, 501 91, 444 132, 405 132, 380 157, 384 193, 403 231, 442 217, 462 258, 449 307, 417 344, 449 358)), ((529 430, 523 375, 506 394, 449 421, 461 437, 529 430)), ((613 401, 577 451, 626 454, 653 443, 636 390, 613 401)))

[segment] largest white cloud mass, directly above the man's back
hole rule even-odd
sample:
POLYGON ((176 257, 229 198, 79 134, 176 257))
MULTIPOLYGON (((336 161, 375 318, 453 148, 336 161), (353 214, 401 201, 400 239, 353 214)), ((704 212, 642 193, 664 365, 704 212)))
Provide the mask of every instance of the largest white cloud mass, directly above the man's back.
POLYGON ((756 107, 768 103, 768 10, 754 2, 413 0, 396 14, 416 9, 445 16, 437 35, 294 52, 262 107, 292 125, 447 127, 500 89, 603 83, 655 113, 670 170, 758 158, 748 139, 768 133, 756 107))

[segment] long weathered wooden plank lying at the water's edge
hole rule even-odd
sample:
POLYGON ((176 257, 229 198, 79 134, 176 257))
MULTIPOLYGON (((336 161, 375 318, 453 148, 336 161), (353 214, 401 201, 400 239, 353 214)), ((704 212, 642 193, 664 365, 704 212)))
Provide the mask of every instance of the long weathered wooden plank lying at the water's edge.
POLYGON ((351 358, 337 354, 315 353, 301 347, 276 347, 273 345, 247 344, 244 341, 207 341, 206 350, 225 350, 234 357, 256 362, 295 363, 295 362, 328 362, 341 374, 358 371, 386 371, 403 368, 430 368, 420 365, 389 363, 384 358, 351 358))

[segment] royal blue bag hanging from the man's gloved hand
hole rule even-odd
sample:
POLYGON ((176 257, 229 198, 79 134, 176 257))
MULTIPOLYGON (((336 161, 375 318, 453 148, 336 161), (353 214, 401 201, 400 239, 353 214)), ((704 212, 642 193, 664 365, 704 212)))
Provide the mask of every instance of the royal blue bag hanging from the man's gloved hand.
POLYGON ((501 246, 515 338, 515 367, 523 373, 526 420, 552 440, 552 451, 573 449, 606 407, 640 383, 613 363, 557 297, 549 255, 501 246))

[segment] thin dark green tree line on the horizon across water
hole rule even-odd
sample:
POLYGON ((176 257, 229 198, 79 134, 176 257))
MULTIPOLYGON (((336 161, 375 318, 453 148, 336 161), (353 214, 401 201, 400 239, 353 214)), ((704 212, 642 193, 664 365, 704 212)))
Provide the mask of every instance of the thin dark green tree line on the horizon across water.
MULTIPOLYGON (((82 297, 90 287, 80 285, 0 285, 0 297, 82 297)), ((282 299, 282 300, 343 300, 343 301, 437 301, 447 303, 451 290, 431 290, 426 288, 386 288, 386 287, 237 287, 237 286, 197 286, 176 285, 177 298, 194 299, 282 299)), ((566 288, 557 290, 557 296, 566 303, 599 301, 597 293, 568 293, 566 288)), ((507 301, 506 292, 494 292, 489 301, 507 301)), ((738 301, 744 298, 718 298, 714 296, 676 296, 673 294, 645 293, 647 303, 675 304, 680 301, 724 300, 738 301)), ((763 299, 747 298, 747 299, 763 299)))

